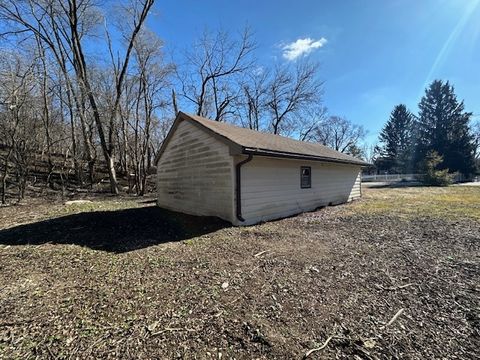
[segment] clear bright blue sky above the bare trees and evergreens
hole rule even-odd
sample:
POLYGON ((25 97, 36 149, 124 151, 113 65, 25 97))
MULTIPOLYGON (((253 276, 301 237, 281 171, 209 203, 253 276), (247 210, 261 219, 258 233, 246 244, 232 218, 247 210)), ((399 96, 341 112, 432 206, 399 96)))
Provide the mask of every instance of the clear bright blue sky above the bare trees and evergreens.
POLYGON ((148 26, 175 54, 205 28, 235 33, 246 24, 260 61, 320 62, 329 112, 364 125, 369 143, 394 105, 416 112, 437 78, 480 118, 480 0, 158 1, 148 26))

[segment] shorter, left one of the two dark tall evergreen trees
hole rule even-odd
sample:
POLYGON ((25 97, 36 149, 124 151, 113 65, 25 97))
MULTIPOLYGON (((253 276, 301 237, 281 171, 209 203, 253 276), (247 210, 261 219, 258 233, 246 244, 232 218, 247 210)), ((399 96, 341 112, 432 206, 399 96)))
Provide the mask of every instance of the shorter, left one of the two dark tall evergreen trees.
POLYGON ((403 104, 395 106, 380 133, 380 162, 385 170, 407 173, 412 170, 413 125, 415 116, 403 104))

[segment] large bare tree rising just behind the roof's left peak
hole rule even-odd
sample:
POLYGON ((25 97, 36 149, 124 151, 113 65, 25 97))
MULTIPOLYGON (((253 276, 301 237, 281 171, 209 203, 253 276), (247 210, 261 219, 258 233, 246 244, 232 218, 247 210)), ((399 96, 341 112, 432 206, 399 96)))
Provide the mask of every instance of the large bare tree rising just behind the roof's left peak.
POLYGON ((253 67, 255 43, 246 28, 233 40, 222 30, 205 31, 185 54, 186 63, 177 71, 181 96, 195 105, 197 115, 225 121, 240 96, 240 77, 253 67))

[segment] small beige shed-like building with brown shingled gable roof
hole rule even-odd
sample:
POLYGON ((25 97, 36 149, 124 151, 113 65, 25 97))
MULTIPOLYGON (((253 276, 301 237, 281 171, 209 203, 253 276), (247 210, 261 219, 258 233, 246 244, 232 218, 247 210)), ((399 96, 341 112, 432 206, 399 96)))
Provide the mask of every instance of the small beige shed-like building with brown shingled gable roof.
POLYGON ((368 163, 320 144, 180 112, 157 164, 160 207, 251 225, 361 196, 368 163))

